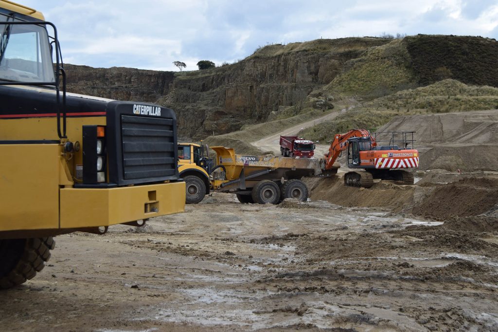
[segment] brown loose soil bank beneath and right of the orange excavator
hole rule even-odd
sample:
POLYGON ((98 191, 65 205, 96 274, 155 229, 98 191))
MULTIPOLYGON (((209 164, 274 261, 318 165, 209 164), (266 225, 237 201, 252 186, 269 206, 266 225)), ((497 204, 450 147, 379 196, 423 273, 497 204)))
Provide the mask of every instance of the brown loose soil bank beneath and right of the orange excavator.
MULTIPOLYGON (((445 221, 493 213, 498 208, 497 174, 460 174, 443 170, 430 172, 433 180, 415 185, 378 181, 370 188, 345 186, 341 174, 326 179, 308 179, 311 199, 343 206, 379 207, 445 221), (435 173, 435 174, 434 174, 435 173)), ((493 229, 491 229, 493 230, 493 229)))

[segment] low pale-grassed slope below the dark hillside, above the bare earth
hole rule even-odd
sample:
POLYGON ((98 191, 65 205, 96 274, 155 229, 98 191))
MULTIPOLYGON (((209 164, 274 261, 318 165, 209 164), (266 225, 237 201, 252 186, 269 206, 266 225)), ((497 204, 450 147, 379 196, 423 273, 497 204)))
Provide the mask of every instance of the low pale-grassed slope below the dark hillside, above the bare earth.
POLYGON ((498 108, 498 88, 469 86, 456 80, 443 80, 364 103, 333 121, 311 127, 300 135, 309 140, 329 142, 334 134, 344 133, 352 128, 374 131, 397 115, 495 108, 498 108))

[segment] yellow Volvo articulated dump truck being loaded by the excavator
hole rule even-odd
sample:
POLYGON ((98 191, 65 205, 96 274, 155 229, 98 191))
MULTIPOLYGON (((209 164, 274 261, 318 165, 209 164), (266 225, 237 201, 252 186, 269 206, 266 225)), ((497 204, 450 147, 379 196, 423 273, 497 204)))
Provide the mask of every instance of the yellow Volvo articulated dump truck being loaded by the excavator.
POLYGON ((200 145, 181 143, 178 149, 180 174, 188 174, 184 176, 187 203, 200 202, 209 188, 235 193, 242 203, 277 204, 285 198, 305 201, 308 188, 302 177, 331 176, 339 168, 336 164, 324 174, 323 159, 236 155, 234 149, 225 147, 211 148, 216 152, 216 163, 213 163, 204 157, 200 145), (191 156, 190 159, 182 157, 182 153, 191 156))

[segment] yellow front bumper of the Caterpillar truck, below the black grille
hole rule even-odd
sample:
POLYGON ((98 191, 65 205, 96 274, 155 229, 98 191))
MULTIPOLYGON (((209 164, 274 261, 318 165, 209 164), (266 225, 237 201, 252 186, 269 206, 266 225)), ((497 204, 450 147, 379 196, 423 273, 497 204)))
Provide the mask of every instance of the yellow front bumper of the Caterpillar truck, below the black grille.
POLYGON ((96 227, 183 212, 185 182, 60 189, 61 228, 96 227), (145 212, 157 207, 157 212, 145 212))

